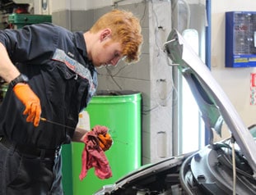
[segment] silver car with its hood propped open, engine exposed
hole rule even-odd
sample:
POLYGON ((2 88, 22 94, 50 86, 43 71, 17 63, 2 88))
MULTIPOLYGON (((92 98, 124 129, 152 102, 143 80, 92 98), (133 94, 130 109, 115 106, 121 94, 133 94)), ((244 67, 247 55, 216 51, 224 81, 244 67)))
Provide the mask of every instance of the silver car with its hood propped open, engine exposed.
POLYGON ((142 166, 95 194, 256 194, 256 126, 244 125, 211 71, 175 29, 165 52, 188 81, 211 132, 210 143, 196 152, 142 166), (213 143, 212 132, 221 134, 224 124, 230 138, 213 143))

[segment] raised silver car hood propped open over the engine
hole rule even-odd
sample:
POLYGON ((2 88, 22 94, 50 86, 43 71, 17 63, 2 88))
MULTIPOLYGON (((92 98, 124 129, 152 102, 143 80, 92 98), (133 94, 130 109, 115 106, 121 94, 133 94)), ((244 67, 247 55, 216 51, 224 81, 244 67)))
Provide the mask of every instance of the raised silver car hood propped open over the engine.
POLYGON ((226 123, 255 175, 256 143, 254 138, 235 111, 226 93, 216 83, 211 71, 176 29, 170 32, 164 46, 165 52, 172 61, 172 66, 178 66, 180 73, 187 79, 206 129, 209 129, 211 134, 212 130, 221 134, 221 126, 226 123))

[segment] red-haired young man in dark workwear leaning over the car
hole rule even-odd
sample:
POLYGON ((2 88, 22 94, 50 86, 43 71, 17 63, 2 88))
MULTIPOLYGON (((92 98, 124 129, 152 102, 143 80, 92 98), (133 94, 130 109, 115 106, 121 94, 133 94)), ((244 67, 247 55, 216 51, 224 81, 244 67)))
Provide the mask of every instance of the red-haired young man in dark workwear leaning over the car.
POLYGON ((0 76, 9 83, 0 107, 0 195, 63 194, 59 149, 85 137, 76 126, 97 87, 95 67, 137 61, 141 43, 139 20, 120 10, 85 33, 49 23, 0 31, 0 76))

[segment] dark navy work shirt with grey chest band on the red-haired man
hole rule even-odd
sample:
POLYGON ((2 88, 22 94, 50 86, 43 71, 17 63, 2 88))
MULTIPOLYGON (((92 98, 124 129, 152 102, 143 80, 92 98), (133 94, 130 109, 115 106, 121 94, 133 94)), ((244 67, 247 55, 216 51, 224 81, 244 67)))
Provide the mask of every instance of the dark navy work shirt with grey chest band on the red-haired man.
POLYGON ((72 33, 44 23, 0 31, 12 62, 29 77, 30 88, 40 98, 41 117, 62 125, 26 122, 25 106, 8 88, 0 106, 0 135, 31 147, 55 148, 70 143, 79 112, 95 93, 95 67, 87 58, 82 32, 72 33))

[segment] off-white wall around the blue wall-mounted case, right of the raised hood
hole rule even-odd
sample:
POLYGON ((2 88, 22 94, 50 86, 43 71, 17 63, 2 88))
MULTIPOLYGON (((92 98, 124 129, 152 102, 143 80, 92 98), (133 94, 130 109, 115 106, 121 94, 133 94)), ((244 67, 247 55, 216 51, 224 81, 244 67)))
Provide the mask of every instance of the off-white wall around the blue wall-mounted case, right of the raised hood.
POLYGON ((255 11, 256 1, 212 0, 212 74, 239 112, 245 125, 256 124, 256 105, 250 105, 250 74, 255 68, 225 67, 225 12, 255 11))

